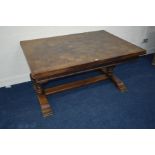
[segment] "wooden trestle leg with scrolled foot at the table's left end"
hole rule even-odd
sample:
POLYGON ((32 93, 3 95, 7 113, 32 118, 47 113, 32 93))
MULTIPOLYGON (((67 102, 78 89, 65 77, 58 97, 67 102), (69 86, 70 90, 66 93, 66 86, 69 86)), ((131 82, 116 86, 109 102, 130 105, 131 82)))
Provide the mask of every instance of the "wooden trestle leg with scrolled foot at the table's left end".
POLYGON ((41 84, 37 83, 36 80, 30 75, 31 80, 33 82, 34 89, 37 93, 37 97, 41 106, 41 111, 44 117, 47 117, 49 115, 53 115, 53 111, 51 106, 48 103, 47 97, 44 93, 43 88, 41 87, 41 84))

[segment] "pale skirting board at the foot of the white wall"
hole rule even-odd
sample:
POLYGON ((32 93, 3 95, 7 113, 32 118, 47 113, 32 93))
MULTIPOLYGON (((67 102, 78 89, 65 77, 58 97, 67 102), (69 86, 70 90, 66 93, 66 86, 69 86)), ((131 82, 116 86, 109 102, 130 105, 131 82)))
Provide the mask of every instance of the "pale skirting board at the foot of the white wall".
MULTIPOLYGON (((147 54, 152 54, 152 53, 155 53, 155 48, 147 50, 147 54)), ((20 83, 24 83, 24 82, 28 82, 28 81, 30 81, 29 74, 18 75, 18 76, 14 76, 14 77, 5 78, 5 79, 0 79, 0 88, 1 87, 7 88, 7 87, 10 87, 15 84, 20 84, 20 83)))

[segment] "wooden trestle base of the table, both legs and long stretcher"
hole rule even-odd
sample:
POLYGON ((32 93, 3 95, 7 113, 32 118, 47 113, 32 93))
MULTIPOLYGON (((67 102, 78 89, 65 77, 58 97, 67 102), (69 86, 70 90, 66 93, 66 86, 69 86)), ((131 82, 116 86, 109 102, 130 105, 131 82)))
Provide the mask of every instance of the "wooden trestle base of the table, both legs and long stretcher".
MULTIPOLYGON (((98 76, 93 76, 87 79, 83 79, 83 80, 78 80, 75 82, 70 82, 70 83, 64 83, 58 86, 54 86, 51 88, 43 88, 42 84, 43 83, 47 83, 48 81, 50 81, 51 79, 46 79, 44 80, 44 82, 38 82, 36 79, 34 79, 32 77, 32 75, 30 74, 31 80, 33 82, 33 86, 34 89, 36 91, 39 103, 40 103, 40 107, 41 107, 41 112, 43 117, 47 117, 50 115, 53 115, 53 108, 52 106, 49 104, 47 96, 50 94, 54 94, 54 93, 59 93, 65 90, 70 90, 73 88, 78 88, 81 86, 86 86, 92 83, 96 83, 99 81, 103 81, 103 80, 110 80, 112 81, 115 86, 121 91, 121 92, 125 92, 127 90, 125 84, 123 83, 123 81, 121 81, 116 75, 114 75, 113 70, 116 67, 116 64, 114 65, 109 65, 109 66, 100 66, 98 68, 92 68, 91 70, 93 71, 99 71, 101 73, 101 75, 98 76)), ((90 71, 90 70, 88 70, 90 71)), ((85 72, 88 72, 85 71, 85 72)), ((75 75, 78 73, 75 73, 75 75)), ((66 75, 67 76, 67 75, 66 75)), ((60 77, 57 77, 60 78, 60 77)))

